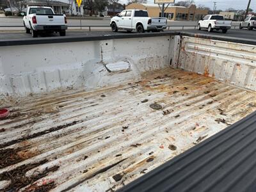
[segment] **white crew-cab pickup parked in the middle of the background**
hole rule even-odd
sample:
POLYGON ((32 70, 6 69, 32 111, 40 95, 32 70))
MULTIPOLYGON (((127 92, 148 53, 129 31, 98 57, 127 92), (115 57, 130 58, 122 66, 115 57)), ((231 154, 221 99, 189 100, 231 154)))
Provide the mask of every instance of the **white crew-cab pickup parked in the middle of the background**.
POLYGON ((111 19, 110 26, 113 32, 118 29, 127 31, 136 30, 138 33, 145 31, 162 31, 166 29, 167 19, 163 17, 148 17, 146 10, 124 10, 111 19))

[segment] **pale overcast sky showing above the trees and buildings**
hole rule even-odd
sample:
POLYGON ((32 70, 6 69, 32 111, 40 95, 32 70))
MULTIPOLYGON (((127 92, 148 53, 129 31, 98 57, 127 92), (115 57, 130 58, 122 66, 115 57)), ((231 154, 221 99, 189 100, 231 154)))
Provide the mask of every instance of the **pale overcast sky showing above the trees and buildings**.
MULTIPOLYGON (((126 2, 127 0, 120 0, 120 2, 126 2)), ((175 0, 178 2, 179 0, 175 0)), ((213 8, 213 2, 216 1, 217 10, 226 10, 227 8, 234 8, 238 10, 246 10, 249 0, 194 0, 195 4, 203 4, 209 8, 213 8)), ((148 0, 148 3, 153 4, 154 0, 148 0)), ((256 0, 252 0, 250 8, 256 11, 256 0)))

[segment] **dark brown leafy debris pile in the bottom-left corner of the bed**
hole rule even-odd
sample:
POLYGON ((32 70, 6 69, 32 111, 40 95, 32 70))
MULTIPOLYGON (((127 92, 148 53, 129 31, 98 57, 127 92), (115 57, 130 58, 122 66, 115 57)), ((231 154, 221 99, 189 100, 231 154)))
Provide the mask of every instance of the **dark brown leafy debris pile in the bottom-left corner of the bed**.
POLYGON ((24 188, 29 184, 33 184, 33 182, 35 182, 36 180, 47 176, 48 173, 58 170, 59 166, 52 166, 51 168, 45 168, 42 173, 38 173, 37 175, 31 175, 30 177, 26 176, 26 172, 28 172, 28 170, 47 163, 47 161, 47 159, 44 159, 42 161, 39 161, 38 163, 24 164, 13 170, 10 170, 9 172, 1 173, 0 180, 11 180, 11 183, 4 190, 18 191, 19 189, 24 188))

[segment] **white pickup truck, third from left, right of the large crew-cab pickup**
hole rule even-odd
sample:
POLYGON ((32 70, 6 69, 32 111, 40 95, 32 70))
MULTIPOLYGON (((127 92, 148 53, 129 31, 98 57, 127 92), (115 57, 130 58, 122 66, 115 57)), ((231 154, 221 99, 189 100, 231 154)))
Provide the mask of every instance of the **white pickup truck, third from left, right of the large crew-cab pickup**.
POLYGON ((222 33, 227 33, 228 29, 231 28, 231 20, 224 20, 223 15, 206 15, 202 20, 198 21, 198 30, 202 28, 208 29, 211 32, 213 29, 222 33))

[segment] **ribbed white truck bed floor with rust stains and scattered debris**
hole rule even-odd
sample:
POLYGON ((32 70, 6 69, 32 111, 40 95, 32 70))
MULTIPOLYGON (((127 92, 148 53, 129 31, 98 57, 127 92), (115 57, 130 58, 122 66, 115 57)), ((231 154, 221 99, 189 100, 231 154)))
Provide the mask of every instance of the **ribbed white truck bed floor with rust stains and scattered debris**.
POLYGON ((255 111, 256 93, 170 68, 136 83, 8 105, 2 189, 111 191, 255 111))

